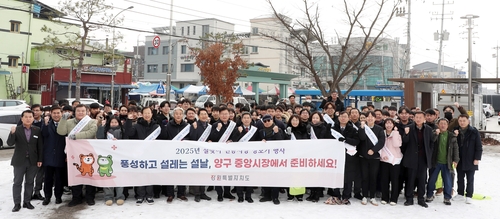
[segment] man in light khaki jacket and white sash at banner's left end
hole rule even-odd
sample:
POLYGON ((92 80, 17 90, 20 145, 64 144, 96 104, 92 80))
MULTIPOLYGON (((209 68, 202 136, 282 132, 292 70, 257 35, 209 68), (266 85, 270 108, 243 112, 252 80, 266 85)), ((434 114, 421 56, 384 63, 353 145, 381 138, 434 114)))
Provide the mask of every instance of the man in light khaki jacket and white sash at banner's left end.
MULTIPOLYGON (((67 135, 68 140, 95 139, 97 121, 87 116, 87 113, 88 108, 83 104, 79 104, 75 107, 75 118, 73 119, 68 119, 70 114, 64 113, 57 126, 57 134, 67 135)), ((91 185, 85 185, 85 187, 85 199, 87 200, 87 204, 95 205, 95 187, 91 185)), ((71 187, 73 198, 71 202, 69 202, 68 207, 73 207, 83 202, 82 189, 83 185, 71 187)))

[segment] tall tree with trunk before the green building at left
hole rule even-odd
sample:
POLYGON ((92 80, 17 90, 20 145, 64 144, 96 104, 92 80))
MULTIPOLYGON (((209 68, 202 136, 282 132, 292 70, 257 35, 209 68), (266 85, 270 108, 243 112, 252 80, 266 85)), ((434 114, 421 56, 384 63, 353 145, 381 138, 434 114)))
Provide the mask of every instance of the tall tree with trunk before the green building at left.
MULTIPOLYGON (((47 26, 42 27, 43 32, 52 34, 52 36, 48 36, 44 39, 43 47, 45 49, 52 49, 53 51, 58 49, 65 50, 67 51, 67 55, 59 54, 61 57, 69 60, 78 60, 76 70, 76 100, 80 100, 80 83, 85 53, 96 51, 103 52, 103 50, 99 48, 89 46, 89 34, 93 31, 109 27, 111 24, 113 26, 118 26, 123 20, 115 19, 113 21, 112 18, 114 18, 114 16, 112 14, 108 14, 108 12, 113 8, 105 3, 106 0, 64 0, 59 2, 61 12, 66 15, 65 19, 69 19, 70 21, 80 25, 81 32, 61 32, 52 30, 47 26)), ((111 48, 114 49, 114 47, 115 45, 112 45, 111 48)))

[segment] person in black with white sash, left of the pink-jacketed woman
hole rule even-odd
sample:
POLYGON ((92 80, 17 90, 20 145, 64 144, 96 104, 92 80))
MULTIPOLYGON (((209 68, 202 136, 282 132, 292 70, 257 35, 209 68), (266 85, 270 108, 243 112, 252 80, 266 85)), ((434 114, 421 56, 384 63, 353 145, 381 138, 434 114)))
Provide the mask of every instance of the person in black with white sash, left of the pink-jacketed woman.
POLYGON ((359 139, 364 142, 358 145, 357 151, 361 157, 361 175, 363 177, 363 199, 361 204, 366 205, 369 198, 372 205, 378 206, 378 202, 375 200, 375 192, 380 166, 379 151, 385 145, 385 134, 382 127, 375 125, 375 118, 375 112, 368 111, 366 113, 366 124, 361 122, 359 139))

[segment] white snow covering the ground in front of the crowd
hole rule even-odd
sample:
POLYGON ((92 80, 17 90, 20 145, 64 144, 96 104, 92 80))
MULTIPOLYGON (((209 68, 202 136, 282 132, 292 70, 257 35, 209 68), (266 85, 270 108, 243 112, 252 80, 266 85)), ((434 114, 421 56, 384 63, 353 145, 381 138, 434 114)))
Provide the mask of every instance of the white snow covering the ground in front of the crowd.
MULTIPOLYGON (((125 201, 123 206, 106 206, 103 193, 98 193, 95 206, 81 204, 76 207, 67 207, 71 196, 63 196, 63 204, 56 205, 55 198, 48 206, 42 206, 42 201, 32 201, 34 210, 22 208, 17 213, 11 212, 14 206, 12 201, 13 169, 10 161, 0 161, 0 217, 1 218, 497 218, 500 217, 498 197, 500 179, 497 167, 500 166, 499 146, 485 146, 480 171, 475 175, 475 193, 491 196, 491 200, 475 200, 473 204, 452 201, 451 206, 445 206, 443 196, 438 196, 425 209, 418 205, 404 206, 404 199, 399 198, 398 205, 361 205, 359 200, 351 199, 350 206, 326 205, 322 198, 319 203, 304 201, 287 202, 286 195, 280 194, 280 205, 271 202, 259 203, 260 190, 253 194, 254 203, 238 203, 236 200, 217 202, 215 191, 207 194, 212 201, 194 202, 193 196, 188 196, 188 202, 175 200, 172 204, 166 203, 166 197, 155 199, 154 205, 135 205, 135 200, 125 201)), ((455 183, 456 185, 456 183, 455 183)), ((133 192, 131 190, 131 196, 133 192)), ((307 196, 306 196, 307 197, 307 196)), ((380 202, 380 200, 379 200, 380 202)))

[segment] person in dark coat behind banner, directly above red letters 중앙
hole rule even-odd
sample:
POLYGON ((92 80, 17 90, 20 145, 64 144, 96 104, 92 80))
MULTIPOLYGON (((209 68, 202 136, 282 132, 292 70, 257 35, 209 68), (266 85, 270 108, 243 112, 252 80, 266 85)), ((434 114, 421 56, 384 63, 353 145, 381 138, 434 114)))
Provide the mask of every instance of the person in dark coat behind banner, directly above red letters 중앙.
MULTIPOLYGON (((274 124, 273 117, 269 114, 266 114, 262 117, 262 123, 264 124, 264 128, 259 130, 259 140, 266 141, 276 141, 276 140, 284 140, 284 133, 277 125, 274 124)), ((264 197, 262 197, 259 202, 267 202, 273 201, 275 205, 279 205, 279 187, 263 187, 264 189, 264 197)))

